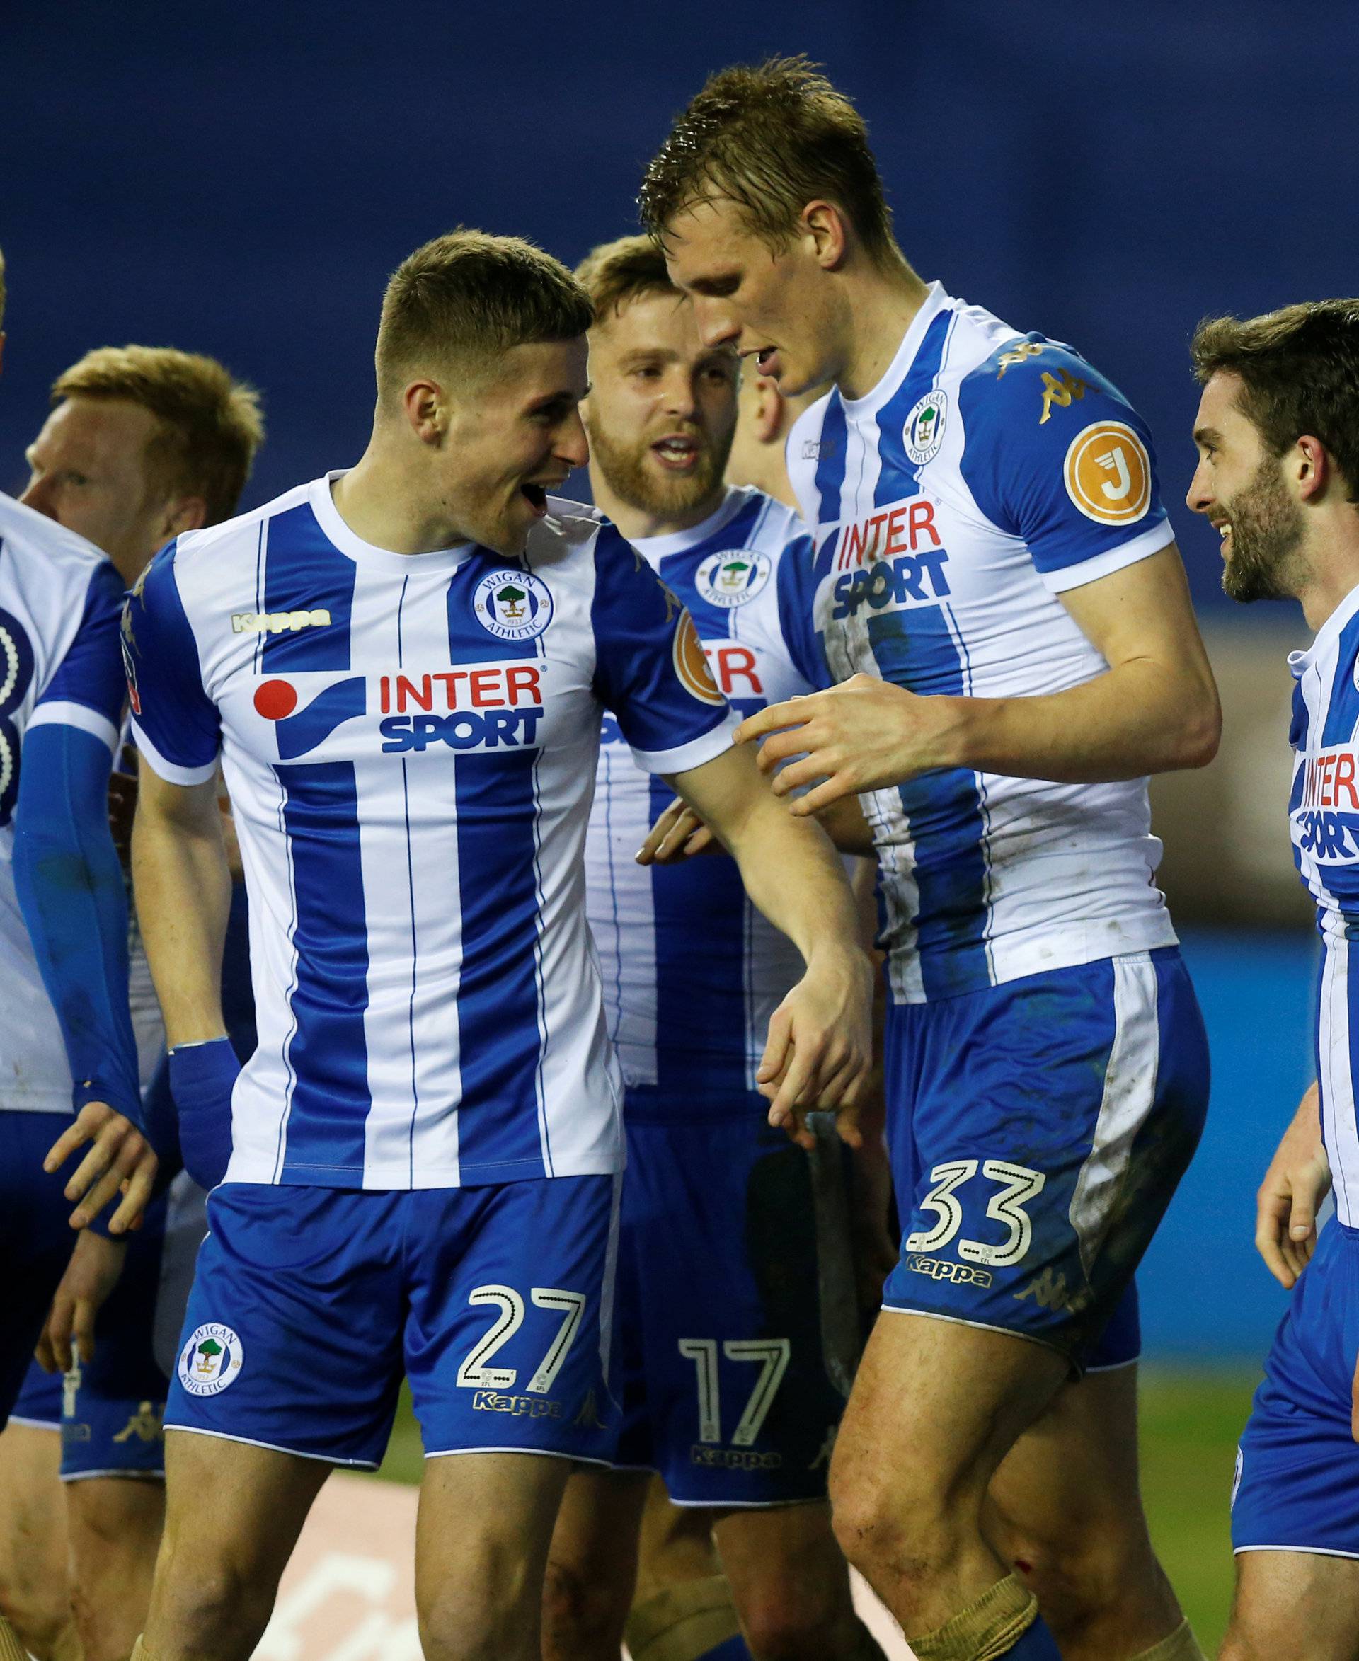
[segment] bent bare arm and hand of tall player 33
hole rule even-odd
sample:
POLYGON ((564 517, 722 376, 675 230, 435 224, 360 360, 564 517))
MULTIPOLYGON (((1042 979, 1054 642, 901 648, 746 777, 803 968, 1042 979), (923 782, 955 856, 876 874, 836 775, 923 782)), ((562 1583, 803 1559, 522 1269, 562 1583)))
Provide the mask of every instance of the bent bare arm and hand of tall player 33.
POLYGON ((940 767, 1097 784, 1206 766, 1221 713, 1178 550, 1060 600, 1108 663, 1080 686, 1037 698, 922 698, 856 674, 761 709, 741 723, 738 742, 764 737, 759 766, 781 769, 778 796, 812 786, 791 804, 794 814, 940 767))

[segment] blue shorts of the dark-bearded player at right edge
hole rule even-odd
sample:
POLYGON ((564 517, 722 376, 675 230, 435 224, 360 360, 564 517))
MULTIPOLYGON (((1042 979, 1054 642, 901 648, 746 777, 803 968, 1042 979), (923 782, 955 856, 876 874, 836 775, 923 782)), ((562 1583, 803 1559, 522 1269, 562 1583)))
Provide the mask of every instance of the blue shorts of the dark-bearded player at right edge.
POLYGON ((1234 1551, 1359 1558, 1359 1229, 1331 1219, 1293 1289, 1236 1450, 1234 1551))

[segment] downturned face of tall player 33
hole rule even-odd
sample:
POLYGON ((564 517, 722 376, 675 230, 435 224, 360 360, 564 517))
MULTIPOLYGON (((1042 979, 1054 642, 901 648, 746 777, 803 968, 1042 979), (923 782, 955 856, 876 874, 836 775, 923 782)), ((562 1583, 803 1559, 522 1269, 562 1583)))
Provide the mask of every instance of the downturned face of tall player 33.
POLYGON ((706 345, 734 345, 786 394, 836 379, 827 277, 807 238, 776 252, 736 203, 718 198, 666 226, 665 256, 670 281, 693 299, 706 345))

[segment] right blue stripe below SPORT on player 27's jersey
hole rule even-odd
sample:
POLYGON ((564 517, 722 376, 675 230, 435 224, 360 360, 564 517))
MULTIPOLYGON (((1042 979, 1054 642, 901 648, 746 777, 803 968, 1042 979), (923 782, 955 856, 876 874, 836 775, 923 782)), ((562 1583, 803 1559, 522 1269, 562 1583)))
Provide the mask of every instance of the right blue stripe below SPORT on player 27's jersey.
POLYGON ((462 985, 459 1169, 464 1183, 538 1174, 537 751, 455 762, 462 985))

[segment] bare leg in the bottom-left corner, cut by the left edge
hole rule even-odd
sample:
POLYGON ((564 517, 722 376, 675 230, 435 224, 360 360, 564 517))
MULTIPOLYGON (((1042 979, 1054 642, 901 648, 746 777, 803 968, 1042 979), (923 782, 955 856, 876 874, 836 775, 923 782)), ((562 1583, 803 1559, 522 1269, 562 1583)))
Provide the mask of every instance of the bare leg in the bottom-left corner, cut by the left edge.
POLYGON ((70 1618, 60 1465, 58 1425, 10 1420, 0 1435, 0 1610, 35 1654, 70 1618))

